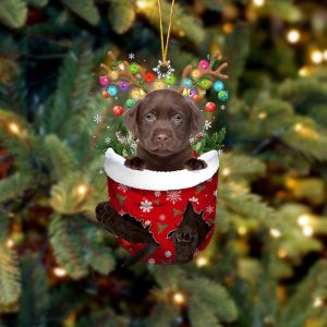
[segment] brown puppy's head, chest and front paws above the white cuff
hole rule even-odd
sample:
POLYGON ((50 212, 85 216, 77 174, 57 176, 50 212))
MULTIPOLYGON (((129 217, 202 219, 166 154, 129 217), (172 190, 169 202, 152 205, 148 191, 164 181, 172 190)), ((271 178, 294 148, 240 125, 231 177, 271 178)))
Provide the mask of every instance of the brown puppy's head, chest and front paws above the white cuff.
POLYGON ((132 169, 172 171, 197 170, 207 165, 193 157, 190 134, 203 130, 204 118, 194 102, 181 94, 159 89, 149 93, 124 117, 138 138, 136 157, 126 159, 132 169))

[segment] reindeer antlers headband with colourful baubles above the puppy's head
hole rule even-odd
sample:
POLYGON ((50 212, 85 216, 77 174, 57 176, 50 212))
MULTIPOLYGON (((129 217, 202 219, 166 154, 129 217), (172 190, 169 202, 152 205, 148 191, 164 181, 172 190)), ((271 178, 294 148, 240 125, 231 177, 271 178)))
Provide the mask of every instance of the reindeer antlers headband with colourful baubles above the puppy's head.
MULTIPOLYGON (((156 76, 152 71, 147 71, 136 62, 118 61, 112 51, 108 52, 108 58, 111 60, 111 64, 100 64, 106 71, 106 74, 99 77, 99 84, 104 87, 102 96, 118 99, 120 98, 118 97, 120 92, 129 94, 124 104, 128 109, 146 94, 162 88, 174 89, 199 102, 204 98, 206 90, 214 85, 214 89, 218 92, 218 98, 222 101, 228 99, 228 92, 225 90, 222 82, 228 78, 228 75, 221 73, 228 66, 228 63, 219 62, 221 60, 219 52, 213 56, 208 55, 206 59, 199 60, 195 69, 191 64, 186 65, 182 73, 181 83, 178 83, 175 75, 172 73, 174 70, 170 66, 170 61, 167 61, 165 74, 159 71, 158 66, 153 69, 153 71, 157 72, 156 76), (217 62, 218 66, 215 68, 217 62)), ((162 63, 162 61, 160 62, 162 63)), ((120 105, 121 109, 124 106, 120 105)), ((122 111, 120 110, 116 114, 119 116, 122 111)))

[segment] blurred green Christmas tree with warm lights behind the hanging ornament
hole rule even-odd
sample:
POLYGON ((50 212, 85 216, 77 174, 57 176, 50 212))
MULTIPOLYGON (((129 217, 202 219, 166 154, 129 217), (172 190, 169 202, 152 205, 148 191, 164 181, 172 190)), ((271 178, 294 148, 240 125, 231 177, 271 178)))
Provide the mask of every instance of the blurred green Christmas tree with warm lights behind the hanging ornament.
POLYGON ((157 1, 1 0, 0 24, 1 327, 327 326, 326 1, 177 1, 174 69, 220 50, 230 75, 198 143, 227 129, 217 229, 181 266, 119 269, 129 254, 94 211, 96 145, 122 150, 99 63, 157 64, 157 1))

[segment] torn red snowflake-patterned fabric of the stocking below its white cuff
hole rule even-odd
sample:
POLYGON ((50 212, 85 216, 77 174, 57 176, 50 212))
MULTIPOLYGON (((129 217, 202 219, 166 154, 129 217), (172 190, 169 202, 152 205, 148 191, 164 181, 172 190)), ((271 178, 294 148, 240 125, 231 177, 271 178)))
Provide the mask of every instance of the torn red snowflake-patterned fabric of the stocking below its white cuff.
MULTIPOLYGON (((192 201, 194 210, 196 213, 204 210, 203 217, 206 222, 209 226, 214 225, 195 255, 211 240, 215 231, 217 184, 218 171, 213 178, 196 186, 178 191, 137 190, 117 183, 108 177, 109 202, 121 216, 129 213, 144 227, 150 225, 149 231, 160 246, 144 262, 169 265, 174 263, 174 244, 168 238, 168 233, 179 227, 189 199, 192 201)), ((145 245, 132 244, 118 237, 117 241, 131 254, 137 253, 145 245)))

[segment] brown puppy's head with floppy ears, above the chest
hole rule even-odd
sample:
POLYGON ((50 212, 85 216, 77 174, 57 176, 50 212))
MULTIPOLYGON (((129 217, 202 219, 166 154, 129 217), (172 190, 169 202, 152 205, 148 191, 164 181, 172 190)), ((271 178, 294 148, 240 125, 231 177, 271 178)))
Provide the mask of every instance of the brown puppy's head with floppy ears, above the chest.
POLYGON ((190 134, 202 131, 204 118, 193 101, 174 90, 159 89, 135 104, 124 123, 146 150, 165 157, 184 149, 190 134))

